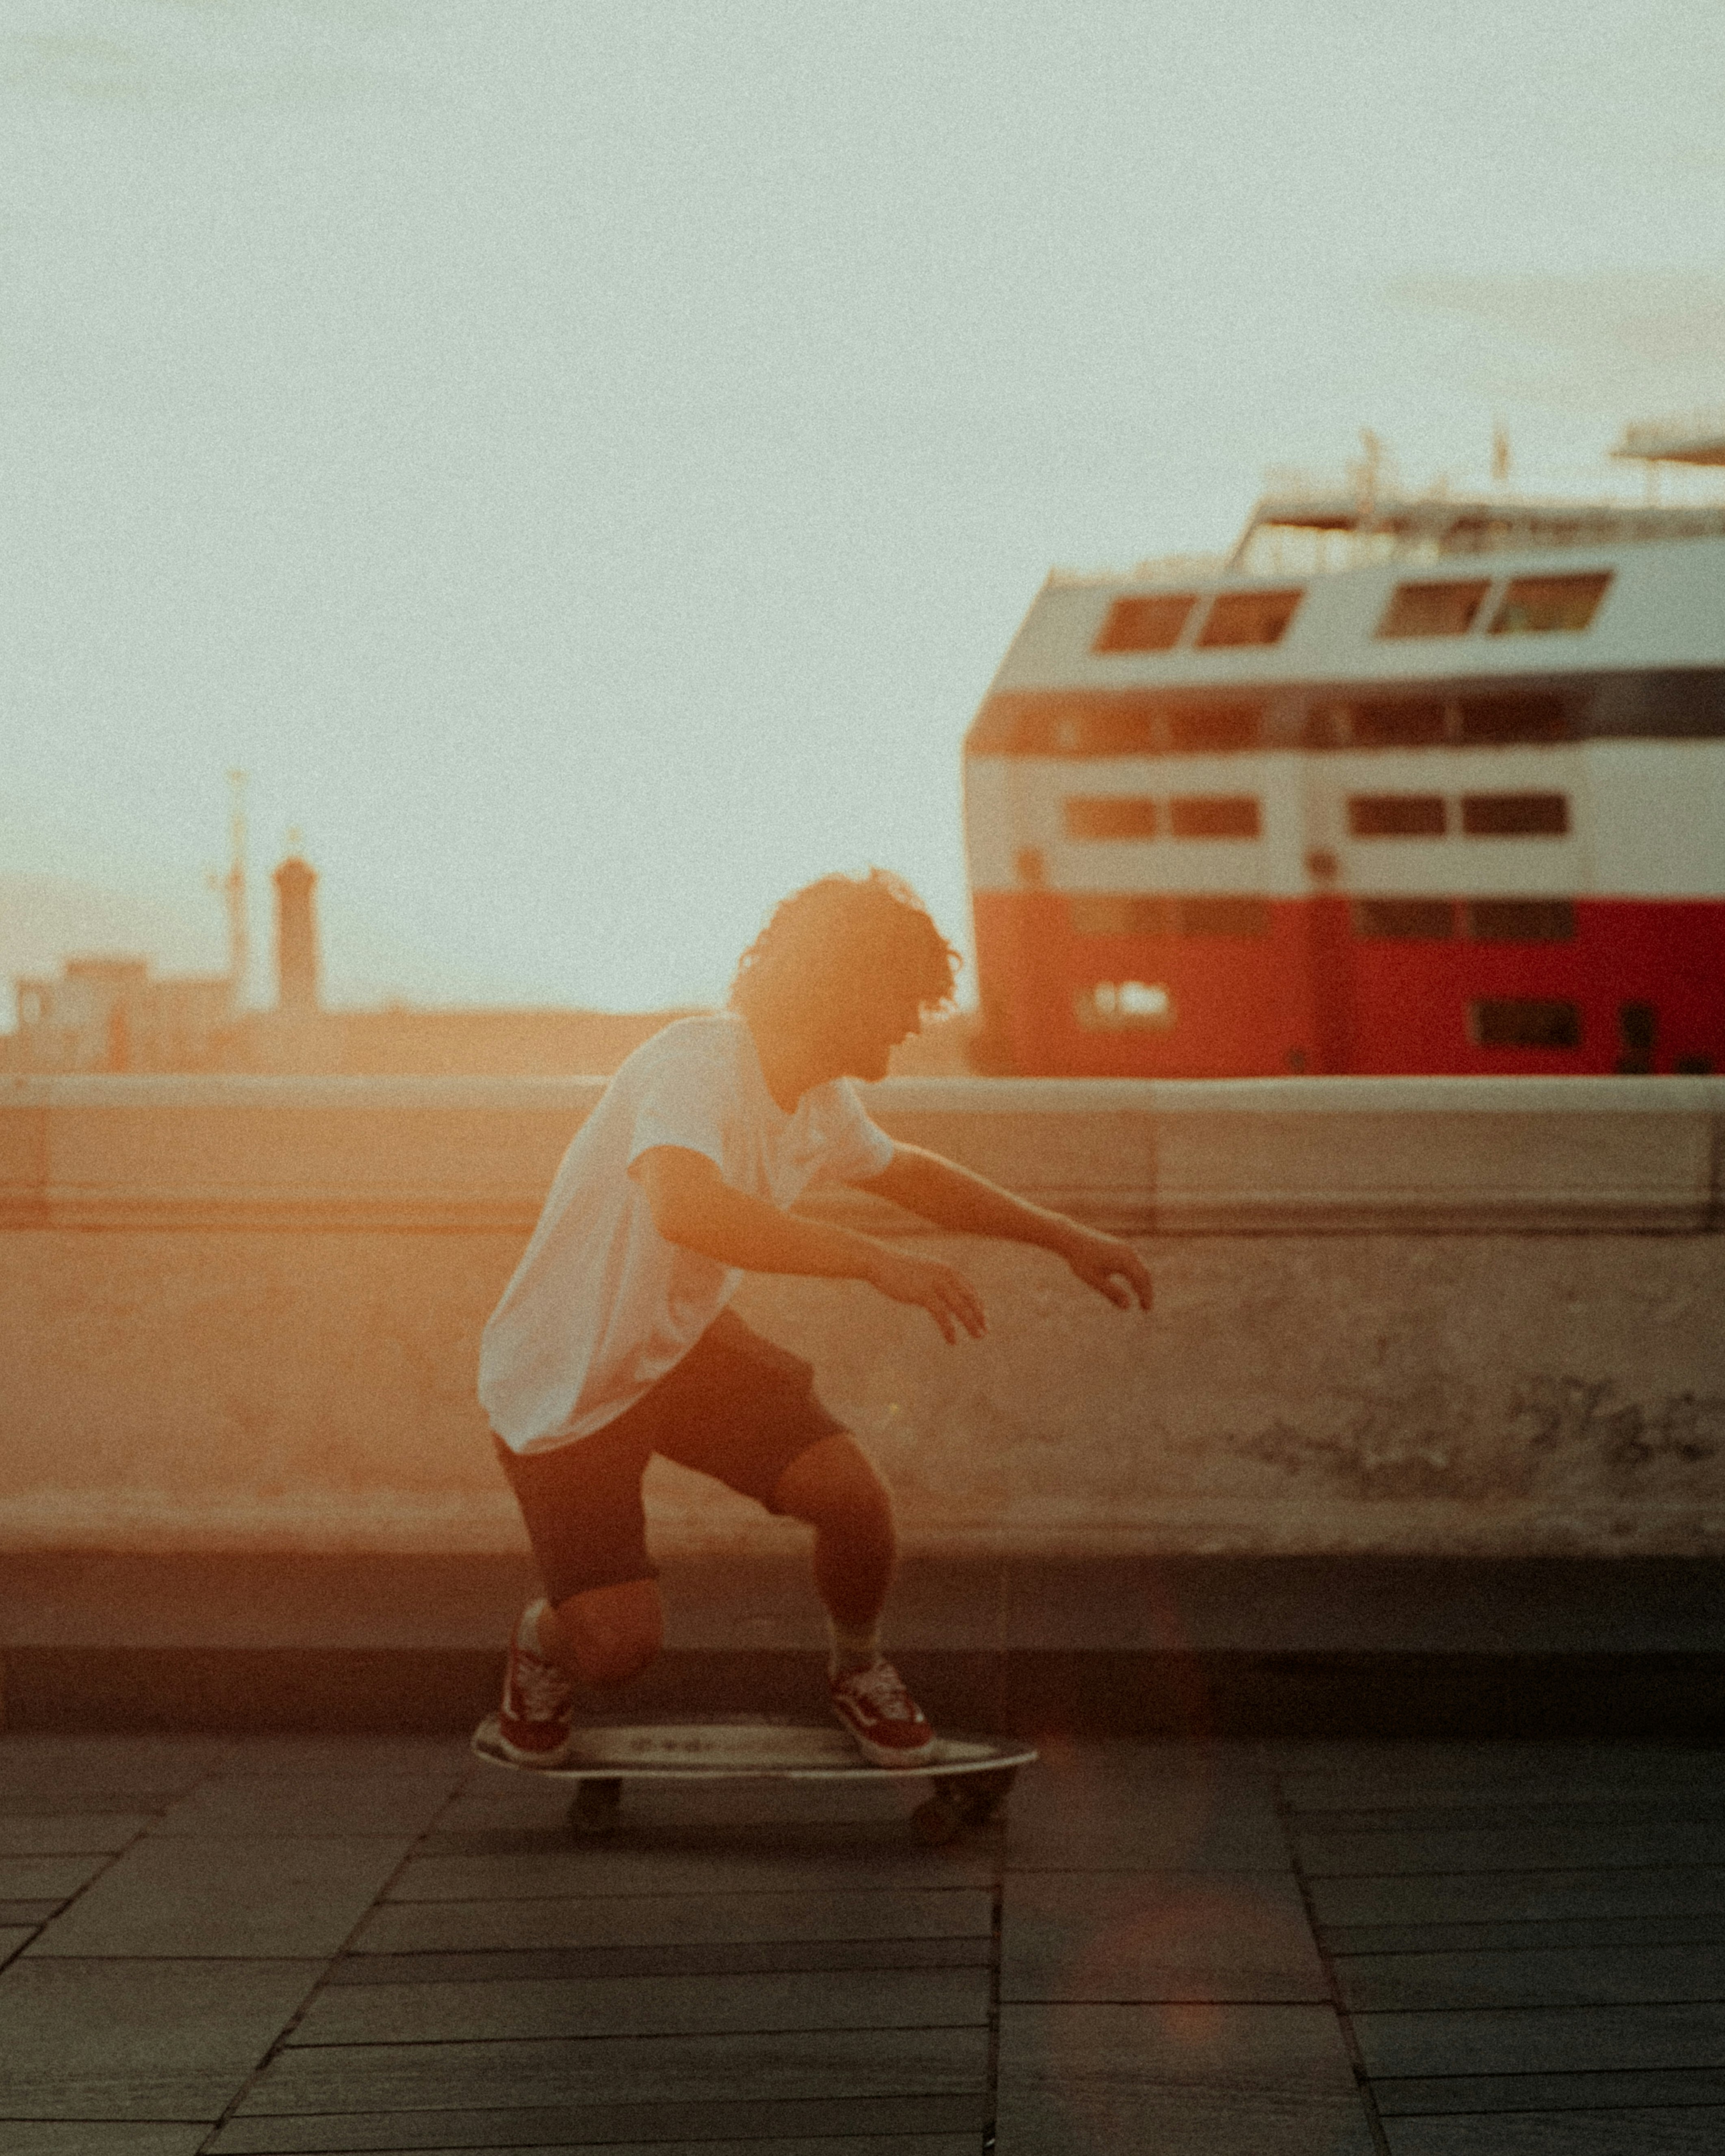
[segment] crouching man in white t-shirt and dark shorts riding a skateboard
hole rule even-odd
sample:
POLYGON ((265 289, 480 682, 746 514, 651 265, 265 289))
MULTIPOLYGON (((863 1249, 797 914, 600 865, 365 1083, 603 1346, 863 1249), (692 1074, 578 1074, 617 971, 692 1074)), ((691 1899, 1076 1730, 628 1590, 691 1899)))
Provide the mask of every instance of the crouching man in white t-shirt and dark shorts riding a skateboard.
POLYGON ((934 1731, 880 1651, 893 1503, 798 1356, 729 1309, 744 1272, 865 1281, 942 1337, 981 1337, 955 1266, 791 1214, 854 1184, 944 1229, 1041 1244, 1119 1309, 1149 1272, 1115 1235, 1026 1205, 968 1169, 897 1145, 852 1078, 951 1000, 957 955, 897 877, 826 875, 744 953, 729 1011, 684 1018, 623 1063, 556 1173, 485 1326, 479 1397, 546 1593, 509 1641, 500 1749, 569 1757, 576 1682, 638 1675, 662 1639, 640 1477, 653 1453, 815 1531, 832 1628, 832 1712, 875 1766, 921 1766, 934 1731))

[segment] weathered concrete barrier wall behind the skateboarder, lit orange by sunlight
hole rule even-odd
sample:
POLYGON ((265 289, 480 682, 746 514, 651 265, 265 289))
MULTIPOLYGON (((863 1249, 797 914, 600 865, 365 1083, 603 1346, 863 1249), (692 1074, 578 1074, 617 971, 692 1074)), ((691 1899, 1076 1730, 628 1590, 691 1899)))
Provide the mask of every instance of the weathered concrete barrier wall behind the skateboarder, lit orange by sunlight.
MULTIPOLYGON (((0 1082, 0 1548, 505 1552, 479 1328, 597 1080, 0 1082)), ((927 1550, 1725 1546, 1725 1080, 893 1080, 871 1108, 1143 1238, 947 1348, 750 1281, 927 1550)), ((860 1197, 856 1225, 919 1229, 860 1197)), ((656 1464, 662 1550, 796 1531, 656 1464)))

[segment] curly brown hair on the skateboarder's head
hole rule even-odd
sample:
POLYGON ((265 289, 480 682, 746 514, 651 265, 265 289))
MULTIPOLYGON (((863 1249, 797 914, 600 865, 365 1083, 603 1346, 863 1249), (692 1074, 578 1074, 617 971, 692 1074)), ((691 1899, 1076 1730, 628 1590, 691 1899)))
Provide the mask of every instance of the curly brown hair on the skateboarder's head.
POLYGON ((953 1000, 962 959, 901 877, 822 875, 794 890, 737 962, 731 1009, 794 1033, 819 1031, 834 996, 880 987, 916 996, 923 1009, 953 1000))

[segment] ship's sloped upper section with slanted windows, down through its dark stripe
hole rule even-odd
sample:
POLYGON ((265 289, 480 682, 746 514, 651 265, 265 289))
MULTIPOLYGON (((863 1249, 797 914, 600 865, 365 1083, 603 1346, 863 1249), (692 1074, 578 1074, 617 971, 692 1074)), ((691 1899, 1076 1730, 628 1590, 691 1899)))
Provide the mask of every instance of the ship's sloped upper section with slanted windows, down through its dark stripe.
POLYGON ((1214 576, 1050 576, 990 701, 1061 690, 1197 694, 1210 722, 1195 722, 1195 703, 1186 724, 1108 744, 1082 740, 1082 727, 1050 729, 1044 709, 1035 737, 983 722, 970 746, 1072 755, 1725 735, 1725 505, 1266 498, 1214 576), (1289 558, 1305 558, 1305 573, 1289 573, 1289 558), (1671 679, 1697 671, 1719 679, 1671 679), (1548 681, 1561 714, 1406 703, 1438 681, 1481 692, 1548 681), (1229 711, 1218 692, 1231 688, 1266 701, 1229 711), (1313 694, 1322 688, 1335 688, 1339 709, 1313 694), (1367 688, 1389 703, 1352 709, 1350 692, 1367 688))

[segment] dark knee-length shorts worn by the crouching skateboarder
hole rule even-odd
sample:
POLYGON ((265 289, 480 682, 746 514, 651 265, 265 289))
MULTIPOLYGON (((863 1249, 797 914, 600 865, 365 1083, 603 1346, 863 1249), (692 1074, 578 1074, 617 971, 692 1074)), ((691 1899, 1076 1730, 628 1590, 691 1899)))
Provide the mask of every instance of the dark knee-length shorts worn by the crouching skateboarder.
POLYGON ((731 1311, 617 1421, 550 1453, 494 1438, 550 1600, 656 1580, 640 1477, 653 1453, 778 1511, 778 1477, 845 1425, 815 1399, 815 1373, 731 1311))

